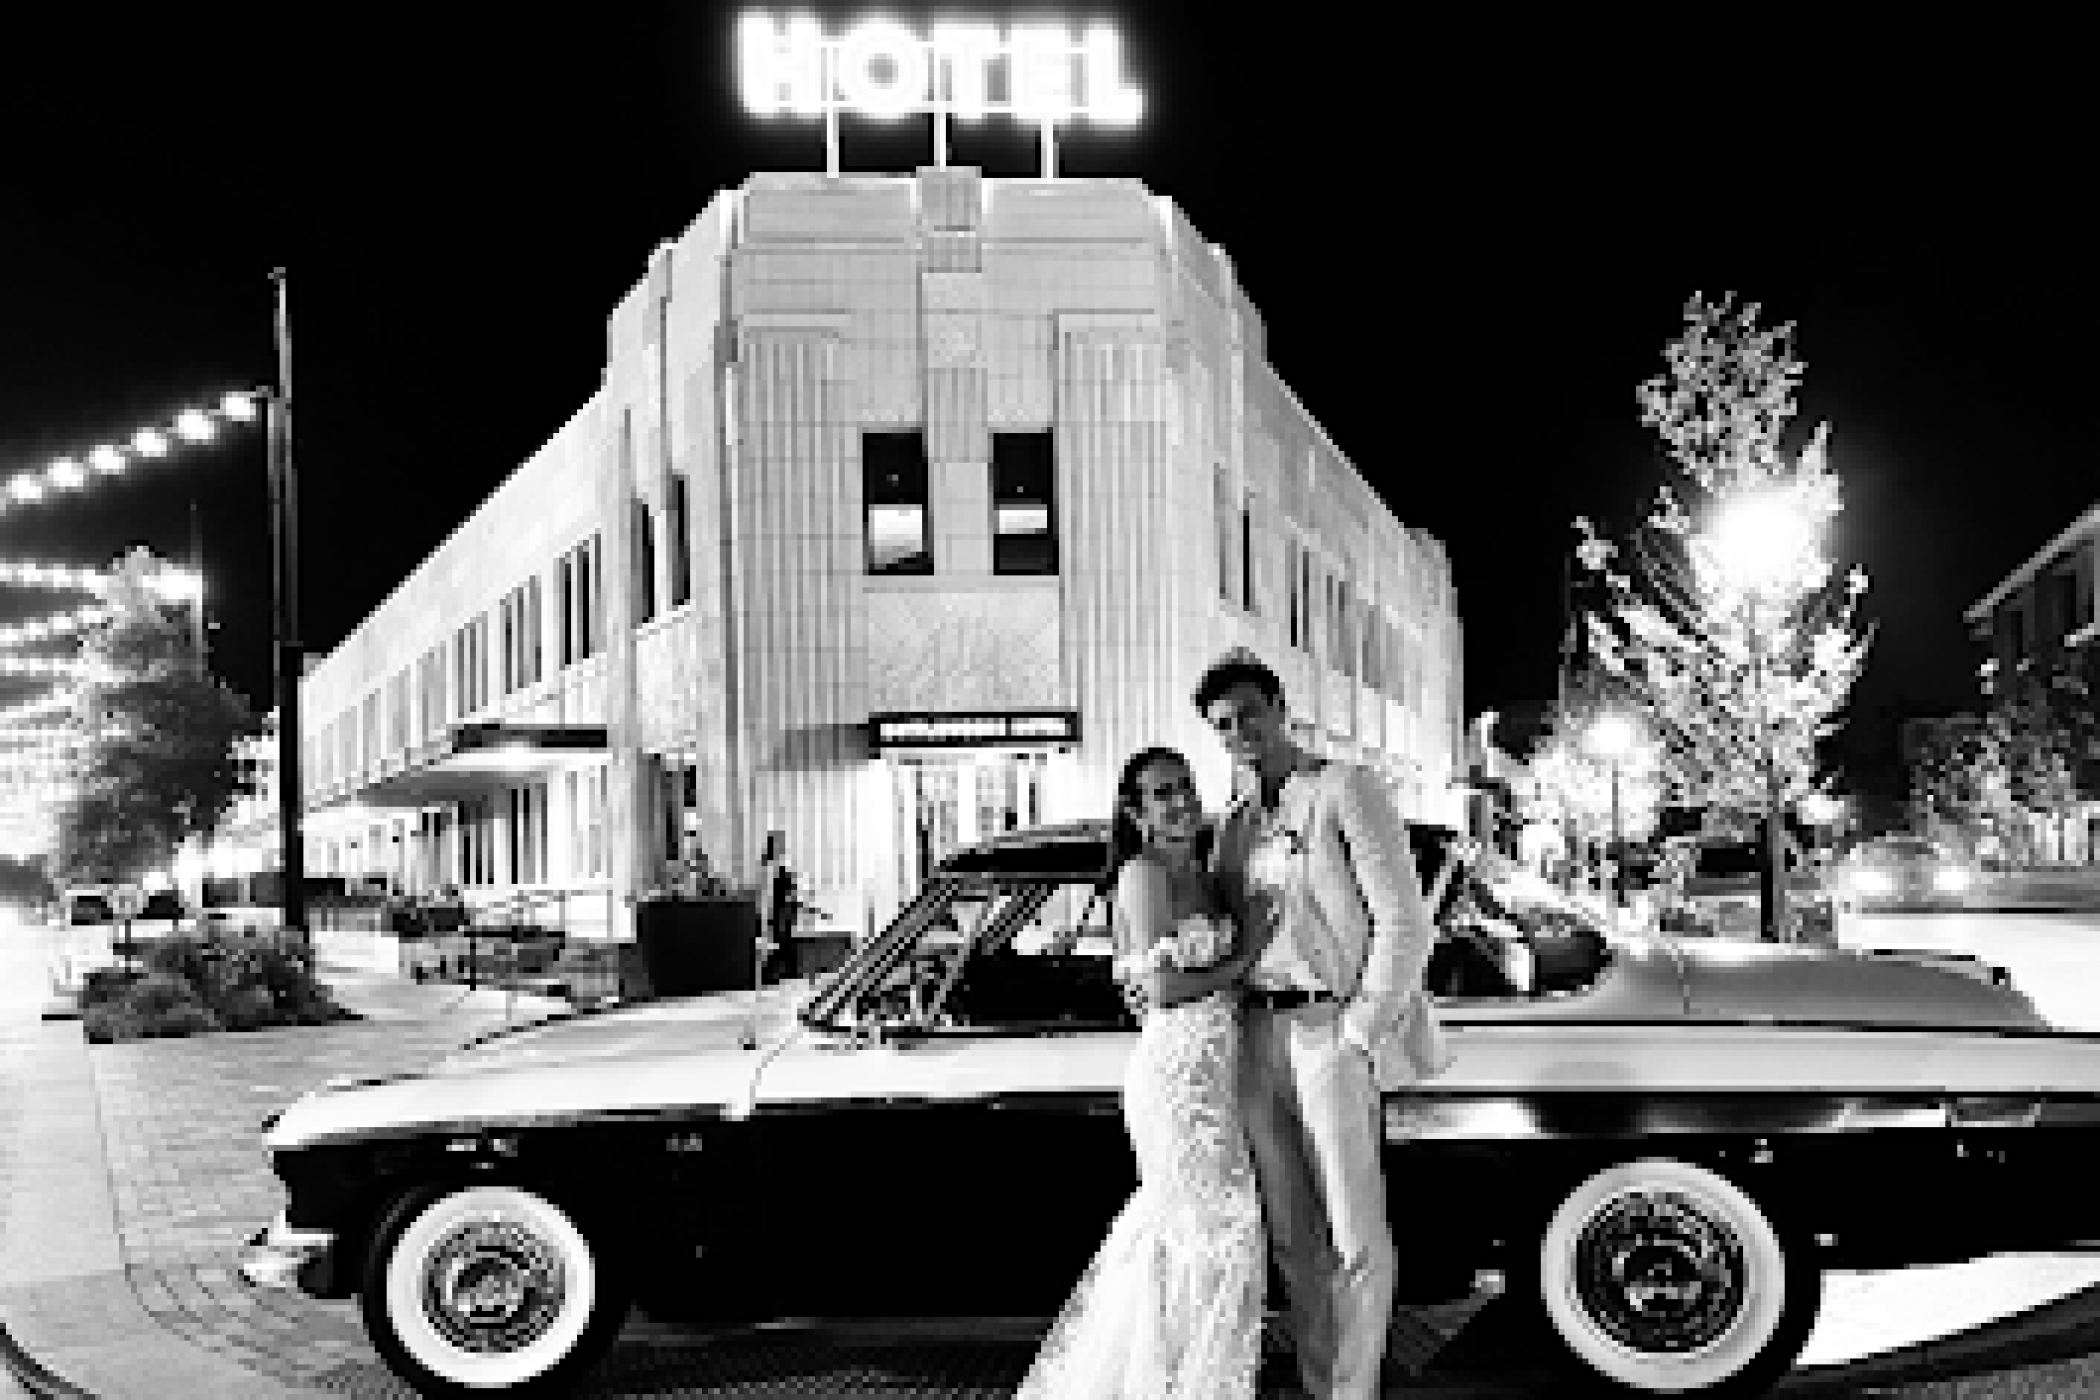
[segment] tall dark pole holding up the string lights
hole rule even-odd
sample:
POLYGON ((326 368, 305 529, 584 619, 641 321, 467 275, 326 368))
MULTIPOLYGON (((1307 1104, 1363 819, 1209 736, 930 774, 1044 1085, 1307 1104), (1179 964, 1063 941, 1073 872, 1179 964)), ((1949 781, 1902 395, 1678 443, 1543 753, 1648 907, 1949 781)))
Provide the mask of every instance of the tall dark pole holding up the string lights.
POLYGON ((277 831, 284 842, 284 932, 298 940, 309 961, 307 850, 300 827, 298 680, 304 670, 298 644, 298 489, 292 474, 292 313, 286 273, 271 269, 277 300, 277 382, 269 393, 269 525, 271 600, 277 691, 277 831))

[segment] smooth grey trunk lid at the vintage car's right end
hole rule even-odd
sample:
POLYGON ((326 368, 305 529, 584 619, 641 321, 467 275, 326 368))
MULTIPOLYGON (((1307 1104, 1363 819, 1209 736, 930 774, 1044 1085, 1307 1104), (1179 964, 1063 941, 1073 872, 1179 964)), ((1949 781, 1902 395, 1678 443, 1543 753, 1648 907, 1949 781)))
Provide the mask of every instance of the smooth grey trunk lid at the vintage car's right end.
POLYGON ((1705 938, 1676 947, 1695 1020, 2050 1028, 2018 991, 1900 953, 1705 938))

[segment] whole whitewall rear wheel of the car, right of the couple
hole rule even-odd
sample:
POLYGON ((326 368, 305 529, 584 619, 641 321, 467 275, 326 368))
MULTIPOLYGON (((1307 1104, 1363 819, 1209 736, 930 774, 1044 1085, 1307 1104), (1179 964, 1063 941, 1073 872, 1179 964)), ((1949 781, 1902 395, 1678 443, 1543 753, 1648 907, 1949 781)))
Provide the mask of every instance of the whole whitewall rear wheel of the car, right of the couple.
POLYGON ((1672 1159, 1606 1167, 1560 1199, 1531 1268, 1552 1339, 1634 1396, 1758 1396, 1808 1343, 1823 1299, 1810 1245, 1743 1188, 1672 1159))

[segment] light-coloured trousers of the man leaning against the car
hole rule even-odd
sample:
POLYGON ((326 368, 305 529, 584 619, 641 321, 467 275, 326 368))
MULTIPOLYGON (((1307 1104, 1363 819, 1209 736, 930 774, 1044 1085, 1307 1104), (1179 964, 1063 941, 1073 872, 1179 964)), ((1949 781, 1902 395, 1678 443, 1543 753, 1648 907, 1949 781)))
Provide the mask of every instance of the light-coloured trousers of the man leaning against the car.
POLYGON ((1241 1106, 1308 1394, 1371 1400, 1399 1268, 1378 1085, 1334 1001, 1245 1012, 1241 1106))

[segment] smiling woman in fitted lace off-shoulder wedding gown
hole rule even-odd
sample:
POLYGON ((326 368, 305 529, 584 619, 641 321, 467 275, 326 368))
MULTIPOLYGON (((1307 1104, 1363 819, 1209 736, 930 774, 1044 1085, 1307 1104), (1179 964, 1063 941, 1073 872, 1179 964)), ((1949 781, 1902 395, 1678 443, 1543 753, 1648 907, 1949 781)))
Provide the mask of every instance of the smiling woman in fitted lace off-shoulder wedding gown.
POLYGON ((1021 1400, 1252 1400, 1268 1270, 1239 1121, 1233 947, 1197 835, 1195 777, 1142 749, 1115 793, 1117 974, 1144 1028, 1124 1077, 1138 1190, 1050 1327, 1021 1400))

